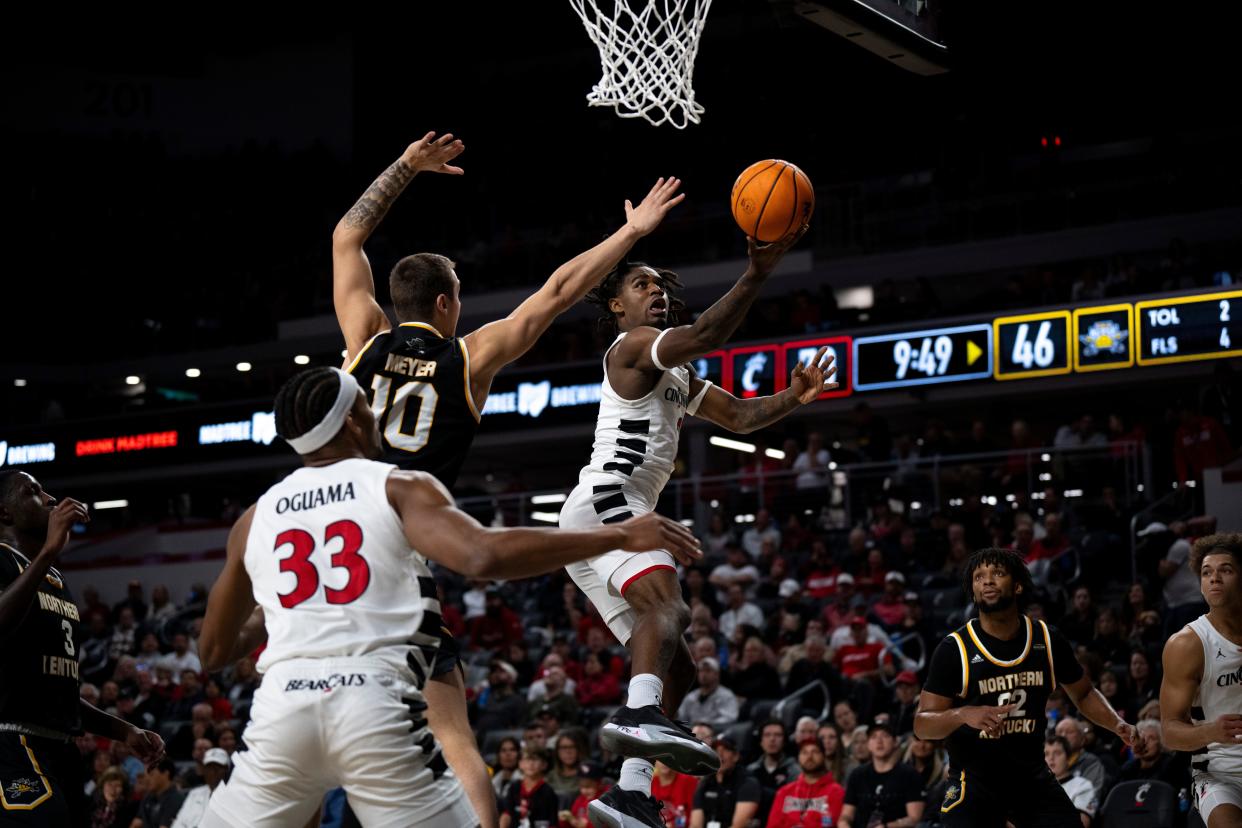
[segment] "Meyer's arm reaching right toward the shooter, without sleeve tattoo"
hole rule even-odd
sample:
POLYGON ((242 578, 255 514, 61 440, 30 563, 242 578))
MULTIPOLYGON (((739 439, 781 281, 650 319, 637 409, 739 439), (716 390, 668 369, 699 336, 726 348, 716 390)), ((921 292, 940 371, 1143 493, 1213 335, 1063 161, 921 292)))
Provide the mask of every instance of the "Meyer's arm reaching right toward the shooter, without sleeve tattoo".
POLYGON ((635 207, 625 202, 626 223, 591 250, 558 267, 542 288, 507 318, 483 325, 466 336, 471 355, 471 385, 482 405, 492 379, 502 367, 525 354, 553 320, 581 302, 635 242, 653 231, 668 211, 682 202, 679 179, 657 179, 647 197, 635 207))

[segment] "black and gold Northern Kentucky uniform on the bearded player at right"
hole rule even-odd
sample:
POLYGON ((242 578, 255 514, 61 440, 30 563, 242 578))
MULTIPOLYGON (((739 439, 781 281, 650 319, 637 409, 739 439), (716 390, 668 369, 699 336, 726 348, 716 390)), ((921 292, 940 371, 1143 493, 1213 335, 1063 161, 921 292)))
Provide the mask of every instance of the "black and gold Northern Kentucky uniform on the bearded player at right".
POLYGON ((1016 705, 999 737, 968 725, 949 735, 943 824, 1081 828, 1077 809, 1043 761, 1043 740, 1048 696, 1082 675, 1069 642, 1025 614, 1010 641, 989 636, 975 618, 940 642, 927 691, 953 699, 955 708, 1016 705))

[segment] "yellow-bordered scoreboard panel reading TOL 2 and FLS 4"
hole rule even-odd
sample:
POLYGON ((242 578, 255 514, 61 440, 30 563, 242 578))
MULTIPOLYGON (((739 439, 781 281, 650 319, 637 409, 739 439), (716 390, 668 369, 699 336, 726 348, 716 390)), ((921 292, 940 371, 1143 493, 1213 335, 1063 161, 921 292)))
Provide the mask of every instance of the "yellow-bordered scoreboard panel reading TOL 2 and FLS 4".
POLYGON ((1139 365, 1242 355, 1242 290, 1134 305, 1139 365))

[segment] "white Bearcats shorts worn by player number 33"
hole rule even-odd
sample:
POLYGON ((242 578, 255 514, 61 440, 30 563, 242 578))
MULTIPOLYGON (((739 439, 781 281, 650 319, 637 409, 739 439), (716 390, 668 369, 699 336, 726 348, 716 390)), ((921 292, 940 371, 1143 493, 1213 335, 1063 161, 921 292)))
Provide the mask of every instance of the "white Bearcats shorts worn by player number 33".
POLYGON ((431 741, 426 703, 409 678, 366 658, 273 664, 255 694, 247 750, 233 754, 202 826, 303 828, 338 786, 368 827, 477 826, 443 757, 419 746, 431 741))

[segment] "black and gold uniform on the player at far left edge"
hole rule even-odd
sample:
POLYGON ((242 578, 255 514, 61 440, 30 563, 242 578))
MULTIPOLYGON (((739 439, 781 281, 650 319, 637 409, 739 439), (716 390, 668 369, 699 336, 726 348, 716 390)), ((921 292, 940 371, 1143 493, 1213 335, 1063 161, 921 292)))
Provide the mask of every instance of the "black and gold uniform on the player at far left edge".
MULTIPOLYGON (((0 591, 30 559, 0 544, 0 591)), ((55 567, 17 628, 0 642, 0 826, 87 819, 77 647, 81 618, 55 567)))

